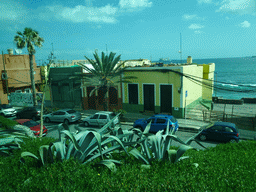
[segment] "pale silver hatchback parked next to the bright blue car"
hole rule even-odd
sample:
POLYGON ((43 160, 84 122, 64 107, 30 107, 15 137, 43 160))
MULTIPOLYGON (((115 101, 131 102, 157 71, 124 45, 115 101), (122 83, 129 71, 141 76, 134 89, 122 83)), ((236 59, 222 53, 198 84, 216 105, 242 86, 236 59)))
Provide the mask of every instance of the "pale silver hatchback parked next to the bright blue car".
MULTIPOLYGON (((83 123, 86 127, 92 125, 92 126, 104 126, 107 124, 110 120, 112 120, 115 117, 115 113, 111 111, 99 111, 95 113, 92 116, 86 117, 83 119, 83 123)), ((119 118, 116 118, 113 123, 114 125, 118 124, 119 118)))

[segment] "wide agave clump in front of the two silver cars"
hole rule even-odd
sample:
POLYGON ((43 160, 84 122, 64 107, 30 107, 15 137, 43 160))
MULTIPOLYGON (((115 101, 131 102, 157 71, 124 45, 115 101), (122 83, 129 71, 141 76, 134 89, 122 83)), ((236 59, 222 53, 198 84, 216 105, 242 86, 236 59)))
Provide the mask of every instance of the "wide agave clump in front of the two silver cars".
MULTIPOLYGON (((118 115, 115 118, 118 118, 118 115)), ((60 133, 59 140, 49 145, 41 146, 39 149, 40 158, 30 152, 23 152, 21 154, 21 160, 24 162, 24 157, 29 156, 41 160, 44 165, 54 161, 68 160, 73 157, 80 163, 86 164, 100 157, 101 161, 98 164, 115 170, 115 164, 121 164, 121 162, 113 159, 105 159, 106 156, 118 149, 124 150, 127 155, 129 154, 120 140, 123 136, 109 134, 114 129, 111 127, 114 119, 99 131, 85 130, 78 133, 71 133, 66 124, 60 124, 58 126, 60 133), (63 128, 64 130, 62 130, 63 128)))

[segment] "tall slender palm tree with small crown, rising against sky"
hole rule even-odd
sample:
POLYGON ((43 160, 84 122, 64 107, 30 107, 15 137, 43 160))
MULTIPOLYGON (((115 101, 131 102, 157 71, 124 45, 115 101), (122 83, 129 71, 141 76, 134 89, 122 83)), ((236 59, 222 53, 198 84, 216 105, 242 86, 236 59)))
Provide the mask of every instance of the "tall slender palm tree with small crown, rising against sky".
POLYGON ((33 104, 37 105, 36 99, 36 87, 35 87, 35 79, 34 79, 34 66, 33 66, 33 56, 36 53, 35 46, 41 47, 44 39, 39 36, 38 32, 31 29, 25 28, 24 32, 17 32, 18 35, 14 37, 14 42, 17 45, 17 48, 23 49, 27 46, 28 54, 29 54, 29 64, 30 64, 30 79, 31 79, 31 87, 33 94, 33 104))

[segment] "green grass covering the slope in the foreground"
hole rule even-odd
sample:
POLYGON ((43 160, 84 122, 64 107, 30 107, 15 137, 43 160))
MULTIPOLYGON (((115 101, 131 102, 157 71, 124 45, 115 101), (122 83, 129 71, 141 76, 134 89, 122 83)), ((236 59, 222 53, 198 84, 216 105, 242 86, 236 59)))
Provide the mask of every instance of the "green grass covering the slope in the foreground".
POLYGON ((81 165, 71 159, 42 166, 20 154, 39 156, 41 145, 53 139, 25 139, 22 150, 0 157, 1 191, 256 191, 256 142, 219 144, 205 151, 189 150, 190 158, 171 164, 153 162, 142 169, 141 162, 126 154, 115 154, 122 165, 116 172, 95 162, 81 165), (193 163, 198 163, 196 167, 193 163))

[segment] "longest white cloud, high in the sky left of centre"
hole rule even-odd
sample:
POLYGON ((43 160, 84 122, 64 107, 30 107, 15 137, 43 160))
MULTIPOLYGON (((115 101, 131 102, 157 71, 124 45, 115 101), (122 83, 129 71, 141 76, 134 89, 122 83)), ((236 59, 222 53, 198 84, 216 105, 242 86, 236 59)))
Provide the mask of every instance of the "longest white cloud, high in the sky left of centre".
POLYGON ((118 8, 111 5, 106 5, 104 7, 86 7, 82 5, 77 5, 74 8, 62 7, 62 6, 49 6, 45 14, 41 14, 41 18, 52 17, 53 14, 58 19, 64 19, 67 21, 72 21, 75 23, 81 22, 95 22, 95 23, 115 23, 116 14, 118 8), (50 12, 50 13, 49 13, 50 12))

